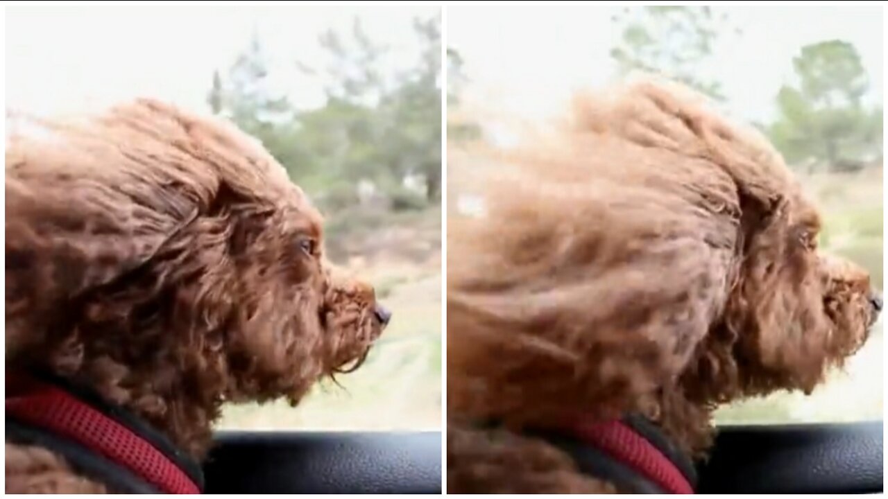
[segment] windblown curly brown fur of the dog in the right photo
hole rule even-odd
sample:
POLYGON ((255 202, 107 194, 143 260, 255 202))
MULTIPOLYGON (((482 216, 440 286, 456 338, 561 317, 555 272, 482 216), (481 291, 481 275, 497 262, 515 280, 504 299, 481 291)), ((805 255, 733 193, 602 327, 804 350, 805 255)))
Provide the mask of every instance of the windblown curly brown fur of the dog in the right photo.
POLYGON ((779 154, 683 89, 585 95, 496 161, 483 214, 448 221, 448 492, 575 488, 566 455, 491 419, 637 412, 701 457, 718 405, 810 392, 875 321, 779 154))

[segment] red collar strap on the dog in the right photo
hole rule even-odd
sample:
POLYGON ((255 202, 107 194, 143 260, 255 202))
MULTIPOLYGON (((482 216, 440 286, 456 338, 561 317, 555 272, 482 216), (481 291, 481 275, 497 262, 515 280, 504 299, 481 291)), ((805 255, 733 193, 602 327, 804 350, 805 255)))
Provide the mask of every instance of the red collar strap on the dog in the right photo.
MULTIPOLYGON (((580 420, 569 425, 567 432, 666 494, 694 494, 694 463, 646 419, 628 416, 622 421, 602 423, 580 420)), ((579 464, 582 467, 583 463, 579 464)))

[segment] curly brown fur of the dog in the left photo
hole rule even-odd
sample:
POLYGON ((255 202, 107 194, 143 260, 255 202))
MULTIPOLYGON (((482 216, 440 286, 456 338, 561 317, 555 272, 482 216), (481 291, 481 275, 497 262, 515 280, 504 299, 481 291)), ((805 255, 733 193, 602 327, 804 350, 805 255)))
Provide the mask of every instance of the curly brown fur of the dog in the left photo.
MULTIPOLYGON (((200 459, 223 403, 295 405, 383 329, 373 289, 325 262, 321 215, 234 127, 151 100, 35 124, 5 157, 7 369, 88 385, 200 459)), ((7 492, 85 483, 6 448, 7 492)))

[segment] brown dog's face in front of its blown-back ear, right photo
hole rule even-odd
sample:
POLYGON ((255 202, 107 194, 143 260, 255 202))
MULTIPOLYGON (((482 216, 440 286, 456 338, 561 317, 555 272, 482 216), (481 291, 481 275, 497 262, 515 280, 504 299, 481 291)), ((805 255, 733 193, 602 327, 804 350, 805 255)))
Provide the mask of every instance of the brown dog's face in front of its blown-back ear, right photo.
POLYGON ((863 268, 818 248, 820 219, 797 187, 767 205, 740 199, 725 305, 682 375, 701 402, 811 392, 863 345, 882 309, 863 268))

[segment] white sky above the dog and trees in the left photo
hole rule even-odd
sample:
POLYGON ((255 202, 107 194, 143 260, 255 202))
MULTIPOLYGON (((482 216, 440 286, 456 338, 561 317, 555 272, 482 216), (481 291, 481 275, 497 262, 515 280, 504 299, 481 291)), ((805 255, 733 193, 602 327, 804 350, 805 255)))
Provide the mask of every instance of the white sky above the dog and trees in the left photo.
MULTIPOLYGON (((273 64, 291 72, 299 106, 322 98, 298 78, 297 59, 322 59, 318 35, 361 18, 372 40, 390 46, 388 64, 416 54, 412 19, 438 7, 19 7, 7 8, 6 104, 36 113, 89 110, 136 96, 205 107, 212 72, 225 69, 258 29, 273 64)), ((289 73, 286 73, 289 75, 289 73)), ((289 77, 288 77, 289 79, 289 77)))

